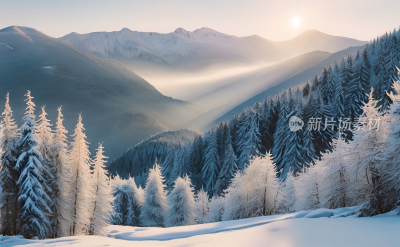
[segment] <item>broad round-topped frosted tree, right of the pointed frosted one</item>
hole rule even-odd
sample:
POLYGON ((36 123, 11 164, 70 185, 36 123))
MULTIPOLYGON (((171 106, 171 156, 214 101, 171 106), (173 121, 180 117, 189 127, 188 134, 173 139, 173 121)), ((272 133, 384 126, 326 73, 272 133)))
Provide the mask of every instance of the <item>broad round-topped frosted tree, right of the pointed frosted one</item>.
POLYGON ((190 225, 195 223, 194 193, 190 179, 178 177, 167 198, 165 226, 190 225))

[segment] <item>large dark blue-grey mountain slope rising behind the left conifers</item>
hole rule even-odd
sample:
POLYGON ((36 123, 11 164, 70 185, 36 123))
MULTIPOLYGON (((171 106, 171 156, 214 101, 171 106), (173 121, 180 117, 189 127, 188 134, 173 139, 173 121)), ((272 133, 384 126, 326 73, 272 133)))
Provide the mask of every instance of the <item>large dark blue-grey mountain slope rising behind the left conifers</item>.
MULTIPOLYGON (((104 142, 114 157, 149 135, 187 121, 193 106, 162 95, 123 65, 84 53, 28 27, 0 30, 0 104, 6 91, 14 116, 24 112, 24 94, 47 105, 51 120, 62 104, 71 132, 82 112, 89 141, 104 142)), ((38 112, 37 107, 37 112, 38 112)))

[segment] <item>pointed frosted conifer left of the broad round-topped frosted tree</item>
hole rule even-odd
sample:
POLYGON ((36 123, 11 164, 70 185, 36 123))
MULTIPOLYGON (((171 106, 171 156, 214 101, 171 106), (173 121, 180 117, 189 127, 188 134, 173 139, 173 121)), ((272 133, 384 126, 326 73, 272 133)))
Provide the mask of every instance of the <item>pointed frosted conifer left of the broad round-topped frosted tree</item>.
POLYGON ((166 191, 164 178, 157 163, 148 172, 144 187, 144 203, 141 206, 140 222, 143 226, 163 226, 166 212, 166 191))

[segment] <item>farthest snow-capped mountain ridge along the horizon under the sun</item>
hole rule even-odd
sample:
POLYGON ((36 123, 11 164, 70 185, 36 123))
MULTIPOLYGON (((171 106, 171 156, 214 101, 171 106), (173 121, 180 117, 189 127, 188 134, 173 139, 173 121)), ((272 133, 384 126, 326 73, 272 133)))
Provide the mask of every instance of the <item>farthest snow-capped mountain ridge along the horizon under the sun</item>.
POLYGON ((237 37, 210 28, 187 31, 177 28, 169 33, 138 32, 128 28, 112 32, 69 33, 61 40, 89 53, 127 60, 145 60, 168 65, 184 65, 200 61, 213 62, 276 62, 292 56, 322 50, 335 52, 365 41, 332 36, 308 30, 286 41, 271 41, 258 35, 237 37))

